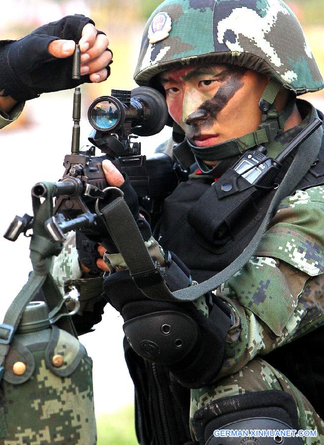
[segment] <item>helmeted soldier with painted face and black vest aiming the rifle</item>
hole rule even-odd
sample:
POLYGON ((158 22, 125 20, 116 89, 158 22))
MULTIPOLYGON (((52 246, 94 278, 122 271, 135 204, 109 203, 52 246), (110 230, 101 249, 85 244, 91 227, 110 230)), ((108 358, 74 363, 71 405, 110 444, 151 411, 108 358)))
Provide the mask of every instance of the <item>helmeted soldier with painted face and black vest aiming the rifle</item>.
MULTIPOLYGON (((274 191, 246 204, 219 233, 217 179, 233 175, 230 168, 246 150, 262 144, 275 158, 312 119, 323 119, 296 96, 324 83, 282 0, 164 1, 144 30, 134 78, 163 91, 173 134, 183 139, 174 153, 184 164, 194 162, 189 179, 165 200, 154 237, 143 234, 174 291, 194 285, 190 275, 196 282, 210 278, 243 252, 274 191)), ((81 278, 75 242, 68 240, 53 270, 58 282, 83 289, 88 306, 76 319, 79 329, 100 320, 104 299, 125 321, 140 444, 324 444, 322 138, 320 128, 301 145, 317 147, 316 162, 296 178, 254 255, 194 303, 146 298, 114 246, 98 259, 79 244, 80 262, 88 266, 81 278), (96 266, 110 271, 101 297, 102 278, 91 277, 96 266), (71 279, 73 271, 79 280, 71 279), (217 438, 221 429, 256 428, 316 430, 316 437, 217 438)), ((130 204, 128 180, 109 161, 104 170, 130 204)))

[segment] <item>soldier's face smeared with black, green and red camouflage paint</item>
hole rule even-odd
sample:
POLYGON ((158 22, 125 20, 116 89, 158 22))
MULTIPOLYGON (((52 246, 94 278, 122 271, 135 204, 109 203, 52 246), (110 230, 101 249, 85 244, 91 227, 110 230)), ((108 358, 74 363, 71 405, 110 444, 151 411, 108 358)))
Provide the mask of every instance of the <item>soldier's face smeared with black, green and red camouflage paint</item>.
POLYGON ((160 75, 169 113, 198 147, 257 130, 269 78, 231 65, 202 65, 160 75))

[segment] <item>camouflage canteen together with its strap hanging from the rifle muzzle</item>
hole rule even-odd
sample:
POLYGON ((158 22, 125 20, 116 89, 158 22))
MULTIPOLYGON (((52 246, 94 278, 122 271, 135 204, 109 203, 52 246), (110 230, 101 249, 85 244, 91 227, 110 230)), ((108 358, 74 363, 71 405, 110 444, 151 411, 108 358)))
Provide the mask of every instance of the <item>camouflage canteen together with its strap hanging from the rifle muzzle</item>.
POLYGON ((34 270, 0 324, 0 445, 95 445, 92 360, 70 316, 78 299, 62 298, 48 272, 62 246, 45 230, 46 186, 44 202, 33 198, 34 270), (31 302, 40 290, 45 301, 31 302))

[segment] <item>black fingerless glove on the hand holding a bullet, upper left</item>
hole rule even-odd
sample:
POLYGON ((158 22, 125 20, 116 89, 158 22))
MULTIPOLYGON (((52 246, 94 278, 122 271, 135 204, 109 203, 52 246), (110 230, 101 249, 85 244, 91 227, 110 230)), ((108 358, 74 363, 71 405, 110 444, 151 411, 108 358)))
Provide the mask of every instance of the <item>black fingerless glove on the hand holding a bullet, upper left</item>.
MULTIPOLYGON (((0 89, 2 95, 18 102, 39 97, 43 92, 75 88, 91 82, 89 76, 72 79, 73 57, 56 58, 49 54, 53 40, 74 40, 79 43, 81 32, 93 20, 83 15, 68 15, 56 22, 40 26, 17 41, 0 42, 0 89)), ((99 34, 104 34, 98 31, 99 34)), ((108 70, 109 75, 109 70, 108 70)))

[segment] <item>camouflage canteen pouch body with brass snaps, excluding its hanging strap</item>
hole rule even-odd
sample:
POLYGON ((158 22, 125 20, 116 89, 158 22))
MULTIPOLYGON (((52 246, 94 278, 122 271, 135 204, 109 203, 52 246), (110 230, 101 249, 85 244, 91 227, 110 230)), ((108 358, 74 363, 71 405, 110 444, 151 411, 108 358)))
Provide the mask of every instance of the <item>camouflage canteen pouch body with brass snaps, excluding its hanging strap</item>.
POLYGON ((4 369, 1 445, 96 444, 92 360, 77 338, 55 325, 17 334, 4 369), (13 372, 17 362, 26 365, 22 375, 13 372))

